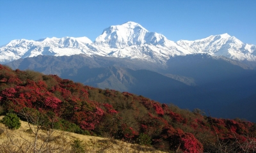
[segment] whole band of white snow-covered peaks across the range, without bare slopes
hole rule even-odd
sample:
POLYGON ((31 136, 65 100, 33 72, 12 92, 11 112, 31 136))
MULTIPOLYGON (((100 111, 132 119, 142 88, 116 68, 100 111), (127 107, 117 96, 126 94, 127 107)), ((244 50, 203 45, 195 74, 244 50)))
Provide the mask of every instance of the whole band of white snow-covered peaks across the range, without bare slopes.
POLYGON ((158 33, 147 31, 140 24, 126 22, 104 29, 94 42, 86 37, 12 40, 0 48, 0 63, 37 55, 102 55, 166 63, 176 55, 205 53, 223 55, 239 61, 256 61, 256 46, 243 43, 234 36, 220 34, 202 40, 177 42, 158 33))

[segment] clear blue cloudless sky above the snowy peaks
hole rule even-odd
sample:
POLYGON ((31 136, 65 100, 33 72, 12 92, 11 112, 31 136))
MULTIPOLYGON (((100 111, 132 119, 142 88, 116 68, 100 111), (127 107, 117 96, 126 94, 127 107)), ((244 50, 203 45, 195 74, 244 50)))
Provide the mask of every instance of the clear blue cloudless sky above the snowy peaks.
POLYGON ((86 36, 133 21, 172 41, 228 33, 256 45, 255 0, 2 0, 0 46, 11 40, 86 36))

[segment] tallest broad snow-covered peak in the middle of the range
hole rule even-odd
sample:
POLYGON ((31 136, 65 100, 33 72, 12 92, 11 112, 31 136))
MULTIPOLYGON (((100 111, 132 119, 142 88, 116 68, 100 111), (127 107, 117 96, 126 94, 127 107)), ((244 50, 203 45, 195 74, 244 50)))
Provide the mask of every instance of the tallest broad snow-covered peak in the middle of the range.
POLYGON ((125 48, 132 45, 163 45, 168 41, 162 34, 150 33, 140 24, 127 22, 104 29, 96 38, 95 45, 108 45, 111 48, 125 48))

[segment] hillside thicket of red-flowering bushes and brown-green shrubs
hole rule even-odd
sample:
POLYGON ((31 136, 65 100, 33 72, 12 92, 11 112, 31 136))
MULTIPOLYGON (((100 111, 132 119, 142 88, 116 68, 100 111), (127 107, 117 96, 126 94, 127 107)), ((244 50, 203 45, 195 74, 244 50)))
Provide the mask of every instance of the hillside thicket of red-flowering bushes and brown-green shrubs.
POLYGON ((256 125, 252 122, 216 119, 198 109, 181 110, 56 75, 13 71, 0 65, 0 100, 2 115, 15 113, 26 120, 35 140, 44 131, 45 143, 54 137, 53 129, 59 129, 166 152, 256 152, 256 125))

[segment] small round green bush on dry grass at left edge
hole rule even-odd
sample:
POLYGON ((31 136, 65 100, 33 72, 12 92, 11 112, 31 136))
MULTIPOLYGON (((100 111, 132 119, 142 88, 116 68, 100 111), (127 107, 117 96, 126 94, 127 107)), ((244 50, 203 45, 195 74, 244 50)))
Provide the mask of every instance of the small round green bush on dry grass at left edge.
POLYGON ((15 113, 6 113, 1 122, 8 129, 19 129, 21 125, 20 118, 15 113))

